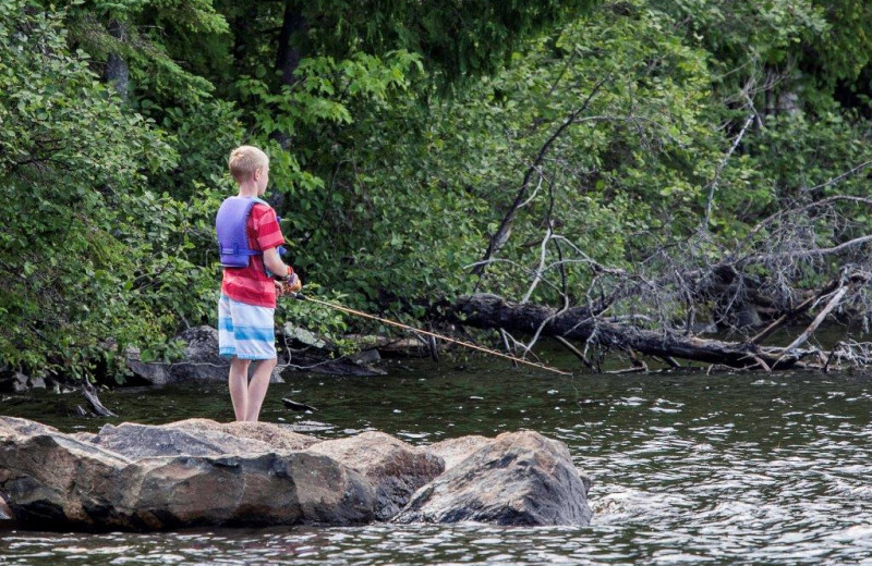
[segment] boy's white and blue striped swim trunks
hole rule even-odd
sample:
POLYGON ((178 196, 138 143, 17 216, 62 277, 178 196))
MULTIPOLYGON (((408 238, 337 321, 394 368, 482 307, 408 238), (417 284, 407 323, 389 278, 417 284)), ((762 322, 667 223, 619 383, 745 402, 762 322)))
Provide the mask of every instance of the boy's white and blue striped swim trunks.
POLYGON ((277 357, 275 310, 246 305, 222 294, 218 300, 218 353, 240 359, 277 357))

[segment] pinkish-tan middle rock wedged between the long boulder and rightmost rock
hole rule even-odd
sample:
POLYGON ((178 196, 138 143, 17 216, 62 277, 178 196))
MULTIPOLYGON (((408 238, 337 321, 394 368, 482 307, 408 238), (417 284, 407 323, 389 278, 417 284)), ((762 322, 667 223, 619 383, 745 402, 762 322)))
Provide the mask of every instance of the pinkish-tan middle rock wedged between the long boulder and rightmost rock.
POLYGON ((388 520, 412 494, 445 470, 443 459, 384 432, 322 442, 308 452, 325 454, 360 471, 375 488, 375 515, 388 520))

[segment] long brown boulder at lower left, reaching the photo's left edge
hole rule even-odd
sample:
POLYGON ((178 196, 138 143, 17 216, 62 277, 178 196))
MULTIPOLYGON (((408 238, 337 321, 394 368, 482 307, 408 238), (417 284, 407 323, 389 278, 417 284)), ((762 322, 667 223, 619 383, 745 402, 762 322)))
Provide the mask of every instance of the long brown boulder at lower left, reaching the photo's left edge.
POLYGON ((133 462, 51 428, 33 427, 27 434, 20 432, 27 427, 13 424, 17 429, 0 426, 0 493, 16 527, 157 530, 375 518, 375 490, 358 471, 322 454, 133 462))

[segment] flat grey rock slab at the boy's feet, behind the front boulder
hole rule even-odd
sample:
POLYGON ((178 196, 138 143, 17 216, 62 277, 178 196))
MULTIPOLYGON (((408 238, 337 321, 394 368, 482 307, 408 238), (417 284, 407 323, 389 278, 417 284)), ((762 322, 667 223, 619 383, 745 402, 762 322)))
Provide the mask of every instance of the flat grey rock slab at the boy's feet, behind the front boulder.
POLYGON ((257 440, 240 439, 218 430, 183 430, 124 422, 104 424, 92 444, 133 460, 157 456, 219 456, 275 452, 257 440))

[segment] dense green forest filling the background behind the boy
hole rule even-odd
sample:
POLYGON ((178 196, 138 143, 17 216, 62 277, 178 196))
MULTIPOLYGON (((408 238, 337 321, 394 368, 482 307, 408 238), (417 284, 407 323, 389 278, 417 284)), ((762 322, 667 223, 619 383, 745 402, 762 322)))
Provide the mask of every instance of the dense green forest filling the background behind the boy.
POLYGON ((370 312, 629 281, 616 320, 719 324, 685 280, 724 261, 792 302, 869 261, 870 30, 865 0, 7 0, 0 366, 123 380, 214 325, 242 143, 307 292, 370 312))

